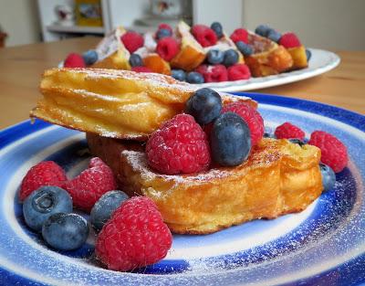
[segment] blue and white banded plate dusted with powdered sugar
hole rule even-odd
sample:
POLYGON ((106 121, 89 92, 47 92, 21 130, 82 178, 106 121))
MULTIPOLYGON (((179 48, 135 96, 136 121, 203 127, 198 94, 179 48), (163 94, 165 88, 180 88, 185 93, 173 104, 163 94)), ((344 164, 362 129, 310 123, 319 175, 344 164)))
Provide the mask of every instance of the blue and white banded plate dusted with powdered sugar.
POLYGON ((88 164, 84 134, 36 121, 0 132, 1 285, 359 285, 365 282, 365 117, 332 106, 262 94, 267 131, 293 122, 336 135, 349 165, 334 189, 305 211, 255 220, 206 236, 173 236, 168 256, 132 273, 105 270, 93 234, 78 251, 58 253, 29 231, 16 192, 26 171, 54 160, 69 176, 88 164))

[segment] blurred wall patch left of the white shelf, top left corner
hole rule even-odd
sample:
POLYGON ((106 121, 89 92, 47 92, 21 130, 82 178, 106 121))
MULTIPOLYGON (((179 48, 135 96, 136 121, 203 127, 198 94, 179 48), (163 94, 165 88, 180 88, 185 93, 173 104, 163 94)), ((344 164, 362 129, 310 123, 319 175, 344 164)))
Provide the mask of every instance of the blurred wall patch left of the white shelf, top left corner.
POLYGON ((0 0, 0 26, 8 35, 6 47, 39 41, 36 0, 0 0))

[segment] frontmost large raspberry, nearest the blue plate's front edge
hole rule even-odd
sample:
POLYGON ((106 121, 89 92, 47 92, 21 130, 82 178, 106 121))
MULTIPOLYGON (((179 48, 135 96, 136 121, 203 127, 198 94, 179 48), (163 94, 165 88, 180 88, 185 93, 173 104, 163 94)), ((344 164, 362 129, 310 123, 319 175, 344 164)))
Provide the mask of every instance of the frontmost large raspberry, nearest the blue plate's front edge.
POLYGON ((115 210, 96 240, 96 256, 110 270, 133 270, 162 260, 172 234, 151 198, 134 196, 115 210))

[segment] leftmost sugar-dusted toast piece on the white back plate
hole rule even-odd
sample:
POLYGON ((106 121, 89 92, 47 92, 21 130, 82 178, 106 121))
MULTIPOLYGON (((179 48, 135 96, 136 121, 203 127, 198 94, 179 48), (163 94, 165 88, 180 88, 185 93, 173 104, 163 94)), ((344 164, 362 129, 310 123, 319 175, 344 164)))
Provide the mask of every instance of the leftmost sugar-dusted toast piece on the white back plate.
POLYGON ((96 48, 99 60, 91 65, 90 68, 130 69, 130 52, 120 41, 120 37, 125 32, 126 30, 122 26, 118 26, 100 41, 96 48))

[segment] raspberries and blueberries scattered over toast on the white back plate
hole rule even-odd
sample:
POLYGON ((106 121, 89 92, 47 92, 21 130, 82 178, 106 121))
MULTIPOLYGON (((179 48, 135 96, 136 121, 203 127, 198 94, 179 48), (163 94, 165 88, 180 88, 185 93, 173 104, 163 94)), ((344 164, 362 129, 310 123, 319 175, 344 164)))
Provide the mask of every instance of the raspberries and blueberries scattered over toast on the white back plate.
MULTIPOLYGON (((294 33, 282 35, 266 25, 257 26, 255 33, 269 38, 285 48, 301 46, 300 40, 294 33)), ((172 59, 181 50, 181 39, 174 35, 172 26, 167 24, 161 24, 154 33, 157 56, 153 59, 146 60, 141 58, 138 53, 139 48, 144 45, 144 38, 141 34, 128 31, 120 37, 120 41, 130 52, 129 63, 130 69, 133 71, 160 72, 171 75, 174 79, 198 84, 251 78, 250 69, 239 59, 249 57, 255 52, 255 47, 253 43, 249 42, 248 32, 245 28, 235 29, 229 37, 233 41, 232 48, 219 46, 220 40, 227 37, 224 35, 223 26, 219 22, 214 22, 211 26, 194 25, 191 28, 191 34, 203 48, 208 49, 203 63, 193 70, 171 69, 172 59)), ((307 58, 308 60, 310 58, 309 50, 307 50, 307 58)), ((64 67, 85 68, 96 61, 98 61, 98 53, 95 50, 89 50, 83 55, 72 53, 64 61, 64 67)))

